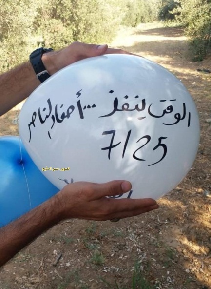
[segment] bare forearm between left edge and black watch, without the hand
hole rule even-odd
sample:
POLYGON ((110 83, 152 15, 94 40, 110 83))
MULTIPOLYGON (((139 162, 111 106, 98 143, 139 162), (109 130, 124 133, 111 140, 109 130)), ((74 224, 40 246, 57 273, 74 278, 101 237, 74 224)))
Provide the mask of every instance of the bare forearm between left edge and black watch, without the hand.
POLYGON ((39 84, 30 62, 0 75, 0 115, 27 98, 39 84))

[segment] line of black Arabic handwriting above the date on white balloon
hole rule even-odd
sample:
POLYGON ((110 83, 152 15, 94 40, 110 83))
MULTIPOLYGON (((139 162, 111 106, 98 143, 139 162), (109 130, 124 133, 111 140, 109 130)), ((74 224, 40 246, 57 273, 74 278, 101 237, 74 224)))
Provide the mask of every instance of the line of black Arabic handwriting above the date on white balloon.
MULTIPOLYGON (((109 91, 110 94, 114 93, 114 90, 110 90, 109 91)), ((77 99, 80 98, 82 96, 82 89, 78 90, 76 93, 77 99)), ((125 95, 124 99, 128 99, 129 96, 125 95)), ((136 95, 134 96, 134 98, 138 101, 139 100, 139 96, 136 95)), ((160 100, 161 103, 167 102, 168 100, 163 99, 160 100)), ((171 99, 169 100, 170 102, 175 102, 176 99, 171 99)), ((52 103, 50 98, 47 99, 47 105, 45 105, 45 107, 43 107, 42 109, 39 107, 38 111, 34 111, 32 113, 32 118, 30 123, 28 124, 28 128, 29 128, 29 142, 31 141, 31 137, 32 137, 32 127, 36 127, 36 124, 39 122, 40 124, 44 124, 48 119, 51 119, 52 124, 50 129, 48 130, 48 136, 51 139, 51 133, 50 131, 53 129, 55 123, 62 123, 65 119, 69 119, 71 117, 71 115, 73 114, 73 112, 75 110, 78 111, 79 114, 79 118, 80 119, 84 119, 85 115, 84 115, 84 110, 85 109, 92 109, 92 108, 96 108, 96 104, 86 104, 86 105, 82 105, 81 104, 81 100, 78 99, 77 102, 75 103, 75 105, 69 105, 67 108, 64 107, 64 104, 56 104, 55 107, 53 108, 52 103)), ((99 116, 99 118, 105 118, 105 117, 110 117, 112 115, 114 115, 116 112, 146 112, 148 113, 149 116, 153 117, 153 118, 162 118, 164 117, 166 114, 170 114, 172 113, 174 110, 173 105, 168 105, 165 109, 163 109, 163 111, 160 114, 157 114, 155 112, 153 112, 153 103, 151 103, 148 108, 146 107, 146 99, 143 98, 141 99, 137 104, 134 104, 133 107, 131 106, 130 103, 123 103, 123 104, 119 104, 119 99, 118 97, 115 97, 114 101, 113 101, 113 109, 111 112, 101 115, 99 116), (140 105, 140 107, 139 107, 140 105)), ((157 107, 156 107, 156 111, 157 111, 157 107)), ((147 116, 139 116, 137 117, 138 120, 143 120, 145 119, 147 116)), ((180 121, 184 120, 186 118, 186 104, 183 103, 183 113, 175 113, 174 114, 174 119, 175 121, 173 121, 173 123, 168 123, 168 122, 163 122, 164 125, 174 125, 174 124, 178 124, 180 121)), ((188 112, 188 127, 190 127, 191 124, 191 113, 188 112)))

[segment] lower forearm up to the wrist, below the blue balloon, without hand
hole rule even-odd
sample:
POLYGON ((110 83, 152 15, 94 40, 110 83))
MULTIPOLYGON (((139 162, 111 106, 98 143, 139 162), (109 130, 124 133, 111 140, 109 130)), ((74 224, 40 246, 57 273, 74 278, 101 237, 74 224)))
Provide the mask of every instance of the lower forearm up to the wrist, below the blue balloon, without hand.
POLYGON ((19 219, 0 229, 0 266, 23 247, 62 219, 61 206, 55 195, 19 219))

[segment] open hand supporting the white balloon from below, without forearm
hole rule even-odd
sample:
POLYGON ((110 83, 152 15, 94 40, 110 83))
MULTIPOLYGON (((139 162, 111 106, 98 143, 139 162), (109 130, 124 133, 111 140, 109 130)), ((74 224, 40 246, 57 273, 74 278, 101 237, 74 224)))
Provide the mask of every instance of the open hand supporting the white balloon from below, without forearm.
POLYGON ((105 221, 140 215, 157 209, 153 199, 114 199, 109 196, 130 191, 127 181, 111 181, 105 184, 77 182, 65 186, 58 194, 61 218, 80 218, 105 221))

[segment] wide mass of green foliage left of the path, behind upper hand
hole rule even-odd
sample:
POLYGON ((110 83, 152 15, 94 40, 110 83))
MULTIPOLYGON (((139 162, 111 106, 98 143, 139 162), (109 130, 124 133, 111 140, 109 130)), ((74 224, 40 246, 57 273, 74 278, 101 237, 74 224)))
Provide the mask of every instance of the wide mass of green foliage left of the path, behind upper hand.
POLYGON ((0 72, 34 49, 110 42, 120 25, 153 21, 156 0, 0 0, 0 72))

